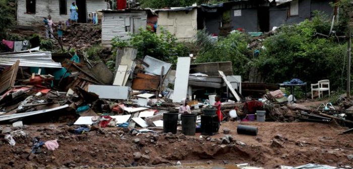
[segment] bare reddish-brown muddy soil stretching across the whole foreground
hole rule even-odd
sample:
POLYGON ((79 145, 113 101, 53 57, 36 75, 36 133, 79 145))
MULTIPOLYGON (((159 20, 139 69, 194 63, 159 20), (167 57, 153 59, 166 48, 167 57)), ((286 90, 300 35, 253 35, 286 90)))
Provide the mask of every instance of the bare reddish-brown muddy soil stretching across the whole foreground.
MULTIPOLYGON (((27 138, 17 138, 11 146, 3 139, 0 147, 2 168, 109 168, 174 165, 212 161, 213 164, 249 163, 252 166, 275 168, 278 165, 298 166, 307 163, 332 166, 353 166, 347 155, 353 154, 353 134, 338 135, 346 128, 335 123, 310 122, 246 122, 257 126, 257 136, 238 135, 238 122, 221 125, 220 133, 211 138, 166 134, 157 131, 131 135, 123 128, 101 128, 84 134, 73 134, 73 127, 63 124, 24 126, 27 138), (233 141, 217 141, 230 129, 233 141), (54 151, 29 155, 32 138, 57 139, 60 146, 54 151), (243 143, 245 145, 241 145, 243 143), (134 155, 135 153, 135 155, 134 155)), ((1 126, 3 129, 10 125, 1 126)), ((12 127, 11 127, 12 128, 12 127)), ((12 128, 15 130, 14 128, 12 128)), ((4 134, 1 135, 4 137, 4 134)))

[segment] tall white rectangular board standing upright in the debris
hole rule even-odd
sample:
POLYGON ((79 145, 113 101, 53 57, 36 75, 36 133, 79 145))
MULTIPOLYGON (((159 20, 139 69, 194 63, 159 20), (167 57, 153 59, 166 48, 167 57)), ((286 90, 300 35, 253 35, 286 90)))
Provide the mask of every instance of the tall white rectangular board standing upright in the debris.
POLYGON ((188 92, 190 57, 179 57, 175 73, 173 102, 181 102, 188 92))

